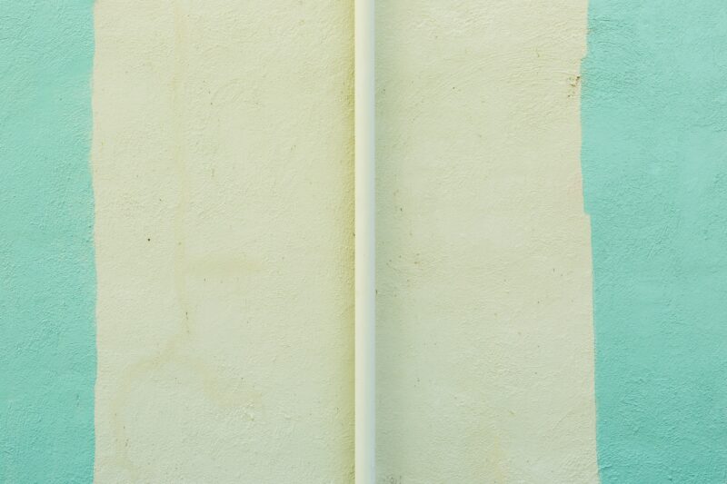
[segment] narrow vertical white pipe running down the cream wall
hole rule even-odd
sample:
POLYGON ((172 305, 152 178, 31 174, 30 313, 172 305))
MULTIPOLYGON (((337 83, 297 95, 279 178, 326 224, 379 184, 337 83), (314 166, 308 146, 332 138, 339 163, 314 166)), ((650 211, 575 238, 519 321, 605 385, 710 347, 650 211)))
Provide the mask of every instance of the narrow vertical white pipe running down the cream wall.
POLYGON ((374 0, 354 0, 355 110, 355 477, 374 484, 375 425, 375 169, 374 0))

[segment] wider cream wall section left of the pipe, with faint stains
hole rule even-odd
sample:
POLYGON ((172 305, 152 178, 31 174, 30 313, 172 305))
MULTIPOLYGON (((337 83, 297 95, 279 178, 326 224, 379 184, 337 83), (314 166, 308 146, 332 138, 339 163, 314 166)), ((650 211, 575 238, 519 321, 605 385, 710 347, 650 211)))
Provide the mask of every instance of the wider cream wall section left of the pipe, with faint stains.
POLYGON ((97 482, 351 479, 352 21, 96 4, 97 482))

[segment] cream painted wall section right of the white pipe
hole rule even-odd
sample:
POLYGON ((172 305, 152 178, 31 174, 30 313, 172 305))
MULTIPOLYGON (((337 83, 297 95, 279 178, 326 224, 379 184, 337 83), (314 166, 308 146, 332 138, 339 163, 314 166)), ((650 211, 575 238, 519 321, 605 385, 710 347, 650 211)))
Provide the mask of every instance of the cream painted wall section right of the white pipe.
POLYGON ((586 2, 379 2, 382 483, 595 482, 586 2))

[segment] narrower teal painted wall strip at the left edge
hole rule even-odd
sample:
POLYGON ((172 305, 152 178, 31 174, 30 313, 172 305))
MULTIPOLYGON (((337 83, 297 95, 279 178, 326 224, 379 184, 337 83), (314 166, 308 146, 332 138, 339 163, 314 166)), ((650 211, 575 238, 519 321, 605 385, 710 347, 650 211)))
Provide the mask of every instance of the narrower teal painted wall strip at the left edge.
POLYGON ((0 482, 94 467, 91 0, 0 0, 0 482))

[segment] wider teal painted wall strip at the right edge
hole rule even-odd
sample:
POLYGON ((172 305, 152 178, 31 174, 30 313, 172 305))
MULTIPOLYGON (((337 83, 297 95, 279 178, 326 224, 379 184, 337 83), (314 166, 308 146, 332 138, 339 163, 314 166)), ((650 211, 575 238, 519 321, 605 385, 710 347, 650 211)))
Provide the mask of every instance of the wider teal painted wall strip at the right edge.
POLYGON ((727 481, 727 8, 592 0, 583 177, 604 483, 727 481))

